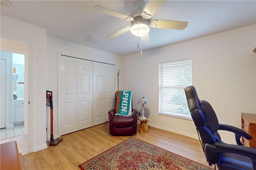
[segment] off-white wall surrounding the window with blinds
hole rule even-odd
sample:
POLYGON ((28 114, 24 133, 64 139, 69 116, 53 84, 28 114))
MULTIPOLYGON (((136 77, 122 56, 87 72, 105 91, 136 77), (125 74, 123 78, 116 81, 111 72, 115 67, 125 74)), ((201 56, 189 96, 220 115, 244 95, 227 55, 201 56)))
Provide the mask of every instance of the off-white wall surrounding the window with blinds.
MULTIPOLYGON (((158 115, 158 63, 192 58, 192 84, 214 108, 219 123, 241 127, 241 112, 256 113, 256 25, 122 57, 120 87, 144 96, 148 125, 198 139, 193 121, 158 115)), ((169 37, 172 38, 172 37, 169 37)), ((151 41, 154 41, 153 39, 151 41)), ((222 140, 235 143, 233 134, 222 140)))

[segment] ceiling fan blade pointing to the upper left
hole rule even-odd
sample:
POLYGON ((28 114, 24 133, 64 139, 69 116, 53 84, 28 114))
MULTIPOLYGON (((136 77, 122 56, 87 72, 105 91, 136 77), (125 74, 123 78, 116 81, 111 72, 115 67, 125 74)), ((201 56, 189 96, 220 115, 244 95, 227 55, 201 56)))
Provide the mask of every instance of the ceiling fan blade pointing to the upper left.
POLYGON ((133 21, 134 19, 130 16, 127 16, 127 15, 124 15, 124 14, 121 14, 119 12, 116 12, 116 11, 113 11, 113 10, 110 10, 108 8, 105 8, 103 6, 100 6, 100 5, 96 5, 94 6, 94 10, 98 11, 98 12, 101 12, 101 13, 104 13, 104 14, 108 14, 110 16, 114 16, 114 17, 117 17, 117 18, 121 18, 121 19, 124 19, 126 21, 133 21))

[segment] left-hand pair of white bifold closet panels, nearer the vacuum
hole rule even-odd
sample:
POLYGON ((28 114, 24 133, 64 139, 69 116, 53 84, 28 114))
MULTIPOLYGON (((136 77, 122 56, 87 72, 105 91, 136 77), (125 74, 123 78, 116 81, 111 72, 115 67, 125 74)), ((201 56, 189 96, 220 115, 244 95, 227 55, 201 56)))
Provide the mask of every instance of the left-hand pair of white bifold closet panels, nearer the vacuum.
POLYGON ((93 62, 59 56, 58 135, 92 126, 93 62))

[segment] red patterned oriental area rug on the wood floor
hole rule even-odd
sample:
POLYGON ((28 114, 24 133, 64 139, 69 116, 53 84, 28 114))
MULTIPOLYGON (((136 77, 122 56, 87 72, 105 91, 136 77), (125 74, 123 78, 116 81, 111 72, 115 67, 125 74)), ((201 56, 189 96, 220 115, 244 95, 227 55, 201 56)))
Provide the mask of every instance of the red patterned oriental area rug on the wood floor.
POLYGON ((134 137, 78 167, 82 170, 212 170, 134 137))

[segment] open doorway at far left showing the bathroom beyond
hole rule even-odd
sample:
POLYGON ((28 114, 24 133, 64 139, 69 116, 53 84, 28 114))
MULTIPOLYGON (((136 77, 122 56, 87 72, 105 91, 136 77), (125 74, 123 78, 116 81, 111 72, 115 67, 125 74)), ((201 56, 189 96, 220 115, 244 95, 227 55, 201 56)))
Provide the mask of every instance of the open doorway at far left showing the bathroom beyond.
POLYGON ((1 124, 4 125, 1 125, 0 129, 0 143, 17 141, 19 152, 26 154, 28 153, 28 43, 1 39, 0 59, 1 80, 5 79, 1 81, 1 124), (5 74, 2 74, 2 70, 5 74), (2 105, 5 105, 3 109, 2 105))

